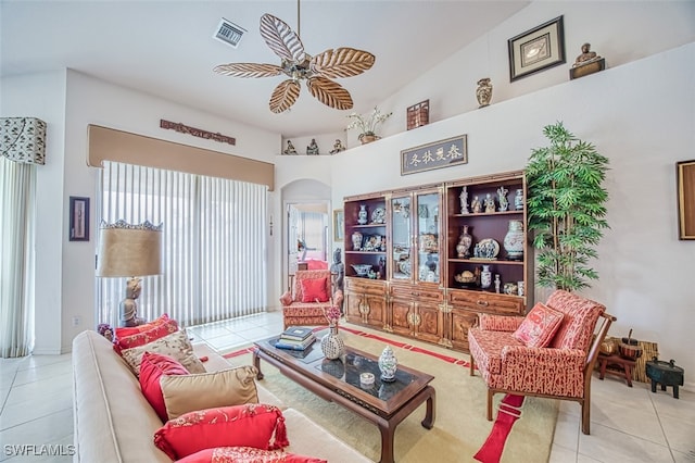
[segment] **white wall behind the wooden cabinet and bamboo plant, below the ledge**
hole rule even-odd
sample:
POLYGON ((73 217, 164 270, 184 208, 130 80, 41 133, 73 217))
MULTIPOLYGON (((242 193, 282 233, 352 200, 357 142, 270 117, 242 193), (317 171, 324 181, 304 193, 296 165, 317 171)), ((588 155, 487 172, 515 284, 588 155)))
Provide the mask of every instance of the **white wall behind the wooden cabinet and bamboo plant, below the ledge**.
POLYGON ((547 146, 542 128, 563 121, 610 161, 610 229, 592 263, 601 279, 580 292, 618 317, 611 336, 633 328, 658 343, 661 360, 695 372, 695 241, 678 240, 675 196, 675 162, 694 158, 693 82, 695 42, 394 135, 336 157, 333 201, 523 168, 531 149, 547 146), (459 134, 468 135, 468 164, 400 175, 401 150, 459 134))

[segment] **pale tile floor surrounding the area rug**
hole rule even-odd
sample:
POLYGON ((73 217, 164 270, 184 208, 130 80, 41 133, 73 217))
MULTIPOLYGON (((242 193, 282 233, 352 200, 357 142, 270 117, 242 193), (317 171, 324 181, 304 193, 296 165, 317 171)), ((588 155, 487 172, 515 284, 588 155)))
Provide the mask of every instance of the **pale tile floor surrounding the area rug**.
MULTIPOLYGON (((195 341, 228 351, 281 328, 281 314, 269 312, 189 331, 195 341)), ((72 461, 71 378, 70 354, 0 359, 0 461, 72 461), (40 452, 41 445, 51 445, 63 455, 14 454, 15 446, 22 445, 35 446, 25 447, 25 452, 40 452)), ((591 436, 580 430, 579 405, 561 401, 549 461, 695 462, 695 392, 681 389, 675 400, 671 388, 652 393, 648 385, 633 385, 629 388, 615 376, 594 377, 591 436)))

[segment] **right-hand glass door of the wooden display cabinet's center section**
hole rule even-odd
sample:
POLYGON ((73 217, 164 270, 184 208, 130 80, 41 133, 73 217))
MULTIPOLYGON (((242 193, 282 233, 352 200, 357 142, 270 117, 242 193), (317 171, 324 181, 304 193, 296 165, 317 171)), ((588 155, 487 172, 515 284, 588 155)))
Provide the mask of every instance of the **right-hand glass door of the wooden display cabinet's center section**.
POLYGON ((440 283, 439 236, 441 229, 439 192, 415 196, 414 223, 417 242, 417 281, 440 283))

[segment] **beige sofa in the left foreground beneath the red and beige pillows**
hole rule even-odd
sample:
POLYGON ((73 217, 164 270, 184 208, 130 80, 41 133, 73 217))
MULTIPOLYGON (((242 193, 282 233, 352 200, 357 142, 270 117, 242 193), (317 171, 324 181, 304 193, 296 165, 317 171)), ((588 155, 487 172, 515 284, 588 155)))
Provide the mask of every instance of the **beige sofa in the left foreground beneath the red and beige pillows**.
MULTIPOLYGON (((199 356, 208 356, 208 372, 229 367, 206 345, 194 345, 199 356)), ((330 463, 370 462, 363 454, 292 408, 279 402, 262 384, 258 401, 282 409, 290 446, 286 451, 313 455, 330 463)), ((97 331, 83 331, 73 340, 74 461, 84 463, 170 462, 153 443, 162 426, 140 392, 140 384, 126 362, 97 331)))

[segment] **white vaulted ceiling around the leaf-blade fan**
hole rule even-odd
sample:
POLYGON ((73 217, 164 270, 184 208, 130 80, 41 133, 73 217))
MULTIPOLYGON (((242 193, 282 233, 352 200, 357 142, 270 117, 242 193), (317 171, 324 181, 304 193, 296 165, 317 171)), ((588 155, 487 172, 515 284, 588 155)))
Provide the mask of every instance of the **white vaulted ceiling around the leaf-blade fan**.
MULTIPOLYGON (((336 79, 364 113, 528 4, 304 0, 299 28, 309 54, 353 47, 376 55, 371 70, 336 79)), ((342 130, 352 111, 321 104, 304 84, 291 110, 274 114, 268 100, 283 77, 213 73, 231 62, 280 64, 258 30, 264 13, 298 29, 294 0, 2 0, 0 73, 67 67, 289 137, 342 130), (247 29, 236 49, 213 38, 223 17, 247 29)))

